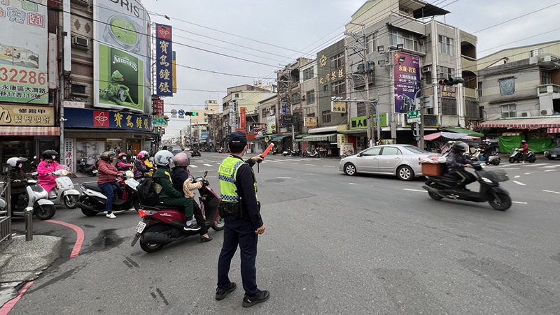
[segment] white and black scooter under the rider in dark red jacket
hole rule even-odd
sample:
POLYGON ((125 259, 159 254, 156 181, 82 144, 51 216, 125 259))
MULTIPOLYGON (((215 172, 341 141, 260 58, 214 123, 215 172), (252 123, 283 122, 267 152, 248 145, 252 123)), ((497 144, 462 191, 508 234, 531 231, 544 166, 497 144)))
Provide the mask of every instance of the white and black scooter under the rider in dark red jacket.
MULTIPOLYGON (((134 210, 139 210, 140 202, 138 200, 137 186, 140 184, 137 180, 134 180, 134 174, 128 170, 126 173, 127 180, 125 180, 125 189, 123 189, 123 199, 115 198, 113 200, 113 211, 120 210, 130 210, 134 207, 134 210)), ((118 184, 118 180, 116 180, 118 184)), ((96 183, 83 183, 80 186, 82 191, 82 196, 77 203, 80 207, 82 213, 87 217, 94 217, 100 212, 104 212, 105 205, 107 202, 107 196, 105 196, 102 189, 96 183)))

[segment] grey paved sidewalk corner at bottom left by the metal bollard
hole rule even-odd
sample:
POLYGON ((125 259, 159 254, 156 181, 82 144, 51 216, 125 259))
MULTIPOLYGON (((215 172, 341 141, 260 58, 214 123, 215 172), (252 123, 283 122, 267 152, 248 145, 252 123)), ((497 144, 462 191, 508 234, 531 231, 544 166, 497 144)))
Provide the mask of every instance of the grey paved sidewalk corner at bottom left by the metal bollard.
POLYGON ((36 279, 60 256, 62 238, 34 235, 25 242, 25 235, 0 243, 0 307, 18 295, 20 284, 36 279))

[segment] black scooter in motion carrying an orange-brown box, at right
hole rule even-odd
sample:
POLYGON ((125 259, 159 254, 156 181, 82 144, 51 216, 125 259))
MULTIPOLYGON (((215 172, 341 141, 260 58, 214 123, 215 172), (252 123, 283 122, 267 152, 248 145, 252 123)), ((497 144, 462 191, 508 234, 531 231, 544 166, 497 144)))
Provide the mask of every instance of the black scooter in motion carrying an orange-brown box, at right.
POLYGON ((480 183, 480 191, 468 189, 457 189, 457 179, 449 174, 432 177, 428 176, 426 184, 422 186, 428 191, 433 200, 442 198, 474 201, 475 203, 488 202, 496 210, 505 211, 512 206, 510 193, 500 187, 500 182, 509 180, 507 174, 483 170, 482 163, 473 163, 477 181, 480 183))

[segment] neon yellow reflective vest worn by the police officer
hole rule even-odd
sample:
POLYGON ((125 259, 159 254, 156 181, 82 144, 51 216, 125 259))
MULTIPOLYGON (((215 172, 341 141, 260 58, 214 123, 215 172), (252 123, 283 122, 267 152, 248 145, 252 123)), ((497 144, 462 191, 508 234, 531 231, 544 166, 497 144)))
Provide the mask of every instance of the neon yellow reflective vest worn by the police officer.
MULTIPOLYGON (((235 182, 237 180, 237 170, 245 163, 233 156, 228 156, 220 164, 218 170, 218 177, 220 179, 220 190, 223 203, 237 203, 239 201, 239 194, 237 193, 237 186, 235 182)), ((251 173, 253 170, 251 169, 251 173)), ((257 180, 255 179, 255 173, 253 173, 253 183, 255 185, 255 196, 257 192, 257 180)))

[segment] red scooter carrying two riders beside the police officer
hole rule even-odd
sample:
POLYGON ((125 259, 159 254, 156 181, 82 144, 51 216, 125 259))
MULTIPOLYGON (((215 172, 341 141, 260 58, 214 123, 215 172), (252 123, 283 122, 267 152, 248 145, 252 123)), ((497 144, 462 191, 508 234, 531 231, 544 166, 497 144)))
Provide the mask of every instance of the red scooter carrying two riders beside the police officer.
MULTIPOLYGON (((220 205, 221 200, 209 186, 210 183, 206 178, 207 174, 208 172, 204 172, 203 177, 195 179, 195 182, 203 182, 202 188, 198 190, 200 193, 200 209, 202 214, 206 216, 205 224, 207 228, 223 230, 225 223, 218 213, 218 205, 220 205)), ((140 240, 140 247, 148 253, 159 251, 171 242, 199 234, 198 231, 183 230, 186 217, 182 207, 140 205, 138 213, 142 221, 136 227, 136 235, 134 235, 131 246, 134 246, 140 240)))

